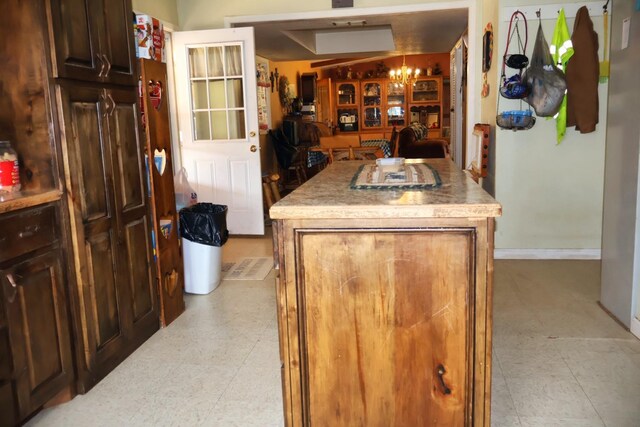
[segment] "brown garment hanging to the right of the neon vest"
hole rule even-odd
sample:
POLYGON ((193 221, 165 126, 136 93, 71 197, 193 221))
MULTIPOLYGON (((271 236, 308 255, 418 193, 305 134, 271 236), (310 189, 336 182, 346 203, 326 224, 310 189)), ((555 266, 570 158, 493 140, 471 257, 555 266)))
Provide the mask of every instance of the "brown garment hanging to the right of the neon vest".
POLYGON ((596 130, 598 123, 598 34, 586 6, 578 9, 573 25, 574 54, 567 64, 567 126, 580 133, 596 130))

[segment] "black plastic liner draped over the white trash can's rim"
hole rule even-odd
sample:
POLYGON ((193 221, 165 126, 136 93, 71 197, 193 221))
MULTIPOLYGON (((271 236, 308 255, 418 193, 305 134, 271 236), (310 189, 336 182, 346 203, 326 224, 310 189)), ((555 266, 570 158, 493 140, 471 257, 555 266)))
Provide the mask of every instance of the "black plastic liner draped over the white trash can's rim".
POLYGON ((180 235, 208 246, 222 246, 229 238, 225 205, 196 203, 180 209, 180 235))

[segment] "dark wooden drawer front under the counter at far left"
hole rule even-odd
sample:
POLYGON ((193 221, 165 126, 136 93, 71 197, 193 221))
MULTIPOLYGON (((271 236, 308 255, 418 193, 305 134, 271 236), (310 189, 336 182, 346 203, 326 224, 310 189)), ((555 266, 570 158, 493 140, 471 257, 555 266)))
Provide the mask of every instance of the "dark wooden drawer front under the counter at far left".
POLYGON ((0 262, 50 245, 56 239, 53 206, 0 217, 0 262))

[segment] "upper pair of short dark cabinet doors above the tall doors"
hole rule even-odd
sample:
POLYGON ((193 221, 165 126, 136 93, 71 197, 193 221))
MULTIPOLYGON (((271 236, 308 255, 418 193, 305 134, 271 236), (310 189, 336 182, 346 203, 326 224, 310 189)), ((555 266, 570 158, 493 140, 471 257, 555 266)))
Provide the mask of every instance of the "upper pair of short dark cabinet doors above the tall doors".
POLYGON ((134 85, 130 0, 49 0, 53 76, 134 85))

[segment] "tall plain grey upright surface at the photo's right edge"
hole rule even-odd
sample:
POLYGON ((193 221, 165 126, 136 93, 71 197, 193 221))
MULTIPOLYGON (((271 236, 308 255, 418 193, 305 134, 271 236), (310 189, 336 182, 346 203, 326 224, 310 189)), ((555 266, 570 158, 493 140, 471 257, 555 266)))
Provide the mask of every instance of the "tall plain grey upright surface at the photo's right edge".
MULTIPOLYGON (((629 326, 633 288, 638 295, 638 159, 640 154, 640 13, 616 2, 611 19, 611 78, 602 236, 602 304, 629 326), (621 49, 623 18, 631 17, 630 44, 621 49)), ((636 296, 637 298, 637 296, 636 296)))

